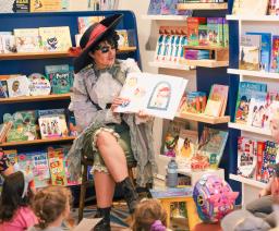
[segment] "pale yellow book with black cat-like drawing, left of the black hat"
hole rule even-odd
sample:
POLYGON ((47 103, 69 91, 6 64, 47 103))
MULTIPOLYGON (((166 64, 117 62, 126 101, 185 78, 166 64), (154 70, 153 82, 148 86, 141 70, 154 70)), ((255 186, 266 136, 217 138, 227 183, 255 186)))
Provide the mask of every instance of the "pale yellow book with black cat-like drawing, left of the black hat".
POLYGON ((72 47, 69 26, 39 27, 44 51, 68 51, 72 47))

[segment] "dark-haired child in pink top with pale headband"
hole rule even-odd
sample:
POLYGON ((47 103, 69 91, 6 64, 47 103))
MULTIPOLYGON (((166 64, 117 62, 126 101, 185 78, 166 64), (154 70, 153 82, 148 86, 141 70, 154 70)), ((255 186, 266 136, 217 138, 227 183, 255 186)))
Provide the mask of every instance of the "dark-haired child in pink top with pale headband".
POLYGON ((22 171, 5 177, 0 199, 0 231, 23 231, 37 223, 29 207, 28 182, 22 171))

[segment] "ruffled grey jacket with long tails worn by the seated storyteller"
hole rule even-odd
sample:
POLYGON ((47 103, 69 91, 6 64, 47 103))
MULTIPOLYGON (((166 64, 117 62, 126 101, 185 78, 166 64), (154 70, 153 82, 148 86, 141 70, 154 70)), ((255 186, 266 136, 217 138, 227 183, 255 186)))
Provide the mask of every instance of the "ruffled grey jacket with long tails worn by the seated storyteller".
MULTIPOLYGON (((123 85, 128 73, 138 71, 140 69, 135 61, 128 59, 125 61, 117 60, 111 69, 106 70, 106 74, 111 75, 123 85)), ((86 145, 88 144, 88 138, 92 138, 92 132, 108 123, 116 122, 111 110, 106 109, 106 105, 101 102, 101 97, 98 96, 99 94, 95 88, 95 84, 101 74, 104 74, 104 71, 96 71, 93 65, 89 65, 78 72, 74 78, 70 110, 74 111, 76 123, 83 129, 68 154, 69 172, 71 178, 75 180, 81 175, 82 151, 87 155, 88 151, 96 150, 95 147, 86 145), (96 105, 101 109, 97 108, 96 105)), ((106 95, 107 90, 111 89, 108 86, 104 86, 102 90, 104 95, 106 95)), ((136 124, 135 114, 128 113, 122 115, 122 120, 130 127, 131 147, 137 161, 138 170, 136 182, 140 186, 145 186, 146 183, 153 182, 153 174, 157 171, 153 147, 153 122, 136 124)))

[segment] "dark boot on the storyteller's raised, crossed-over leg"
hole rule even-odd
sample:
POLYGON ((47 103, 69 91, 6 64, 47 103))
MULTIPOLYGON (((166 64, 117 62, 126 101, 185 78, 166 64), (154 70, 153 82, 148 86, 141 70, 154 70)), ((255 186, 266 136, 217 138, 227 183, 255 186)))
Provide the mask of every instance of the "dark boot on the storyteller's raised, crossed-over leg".
POLYGON ((124 199, 126 200, 130 214, 133 214, 135 206, 138 203, 138 195, 131 179, 128 177, 123 181, 119 182, 118 185, 121 187, 121 191, 124 194, 124 199))

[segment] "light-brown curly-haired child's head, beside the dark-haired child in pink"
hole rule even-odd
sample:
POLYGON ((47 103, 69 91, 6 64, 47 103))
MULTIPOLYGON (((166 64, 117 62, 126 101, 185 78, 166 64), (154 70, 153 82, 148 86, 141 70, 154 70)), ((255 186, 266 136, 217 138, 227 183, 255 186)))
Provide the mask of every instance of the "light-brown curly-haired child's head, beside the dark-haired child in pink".
POLYGON ((46 229, 50 223, 70 215, 70 204, 72 202, 71 191, 63 186, 49 186, 39 191, 33 200, 33 210, 37 216, 41 229, 46 229))

